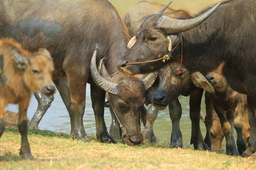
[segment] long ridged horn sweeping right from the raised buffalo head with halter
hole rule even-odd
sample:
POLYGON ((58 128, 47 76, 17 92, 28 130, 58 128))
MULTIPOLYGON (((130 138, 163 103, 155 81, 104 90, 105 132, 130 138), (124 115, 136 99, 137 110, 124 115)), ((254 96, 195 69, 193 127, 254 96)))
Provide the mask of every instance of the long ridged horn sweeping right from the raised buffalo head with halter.
POLYGON ((220 4, 221 2, 213 6, 211 9, 205 11, 198 17, 187 20, 178 20, 163 15, 157 21, 157 28, 164 29, 164 31, 168 32, 168 34, 188 31, 189 29, 193 29, 193 27, 196 27, 201 22, 206 20, 216 10, 216 8, 220 6, 220 4))

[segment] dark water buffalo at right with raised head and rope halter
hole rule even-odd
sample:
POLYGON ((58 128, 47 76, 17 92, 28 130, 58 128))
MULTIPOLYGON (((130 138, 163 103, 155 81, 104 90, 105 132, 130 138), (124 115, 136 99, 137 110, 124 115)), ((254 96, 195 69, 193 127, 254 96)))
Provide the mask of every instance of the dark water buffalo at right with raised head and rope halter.
MULTIPOLYGON (((256 27, 253 24, 256 15, 254 12, 255 6, 256 3, 253 0, 227 1, 221 4, 220 8, 204 23, 182 33, 183 64, 191 73, 200 71, 205 75, 216 69, 221 62, 226 61, 225 67, 223 67, 223 75, 227 78, 228 84, 237 92, 247 94, 251 132, 250 147, 248 147, 244 155, 251 155, 256 151, 256 94, 254 91, 256 80, 253 76, 256 72, 255 59, 253 58, 256 51, 255 41, 253 41, 253 39, 256 39, 256 34, 253 31, 256 27), (233 18, 236 18, 236 20, 233 18)), ((162 42, 166 42, 166 36, 173 35, 173 32, 177 29, 172 26, 175 22, 173 22, 172 18, 166 16, 155 16, 155 20, 153 18, 148 18, 143 25, 148 24, 148 28, 152 28, 152 32, 160 31, 162 33, 154 34, 156 37, 151 41, 156 41, 156 38, 158 38, 159 40, 162 39, 162 42), (168 34, 166 35, 166 33, 168 34)), ((168 44, 155 46, 154 48, 159 48, 155 51, 156 53, 146 53, 143 50, 143 45, 141 45, 143 37, 146 36, 143 32, 145 31, 141 27, 136 34, 137 42, 127 53, 125 62, 154 60, 158 59, 159 55, 163 56, 163 50, 168 53, 168 50, 166 50, 168 49, 168 44), (144 52, 144 54, 141 52, 144 52)), ((144 45, 147 45, 147 43, 144 43, 144 45)), ((180 60, 180 47, 173 51, 174 60, 180 60)), ((153 67, 150 63, 137 65, 124 63, 120 65, 120 70, 126 74, 148 73, 163 65, 164 63, 161 62, 155 63, 153 67)), ((202 96, 202 91, 198 92, 198 98, 201 98, 199 96, 202 96)))

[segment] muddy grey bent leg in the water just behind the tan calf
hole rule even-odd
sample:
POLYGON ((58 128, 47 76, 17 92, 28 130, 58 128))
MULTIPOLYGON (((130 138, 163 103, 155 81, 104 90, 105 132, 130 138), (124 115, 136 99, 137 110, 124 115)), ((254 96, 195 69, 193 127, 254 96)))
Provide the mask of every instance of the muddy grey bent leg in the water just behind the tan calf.
POLYGON ((45 112, 51 106, 51 103, 54 99, 53 95, 45 96, 42 94, 42 92, 35 92, 34 96, 38 101, 38 107, 35 114, 33 115, 33 118, 31 118, 31 121, 29 122, 29 129, 38 129, 38 124, 44 117, 45 112))

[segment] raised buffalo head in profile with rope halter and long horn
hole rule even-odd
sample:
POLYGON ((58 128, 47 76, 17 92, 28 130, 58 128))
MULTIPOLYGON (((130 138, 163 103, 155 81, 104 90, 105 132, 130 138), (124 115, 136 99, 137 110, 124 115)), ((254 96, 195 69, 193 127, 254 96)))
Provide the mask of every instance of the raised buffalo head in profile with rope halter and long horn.
POLYGON ((161 60, 143 64, 128 64, 131 62, 145 62, 156 60, 172 52, 173 48, 182 40, 180 32, 193 29, 213 13, 221 3, 216 4, 202 15, 186 20, 178 20, 161 15, 168 7, 164 6, 156 15, 151 15, 128 43, 130 50, 125 56, 124 63, 118 69, 125 75, 132 76, 140 73, 150 73, 164 66, 161 60))

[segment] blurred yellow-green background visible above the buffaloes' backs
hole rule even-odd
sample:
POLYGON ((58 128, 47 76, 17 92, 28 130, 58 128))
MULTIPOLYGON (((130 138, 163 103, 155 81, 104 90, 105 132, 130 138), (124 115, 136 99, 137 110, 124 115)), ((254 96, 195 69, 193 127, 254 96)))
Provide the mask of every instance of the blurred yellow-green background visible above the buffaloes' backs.
MULTIPOLYGON (((141 0, 109 0, 117 9, 120 15, 124 15, 132 6, 140 2, 141 0)), ((191 14, 196 14, 204 8, 212 6, 220 2, 220 0, 148 0, 150 2, 156 2, 159 4, 166 4, 172 1, 170 5, 175 9, 184 9, 190 11, 191 14)), ((223 0, 225 1, 225 0, 223 0)))

